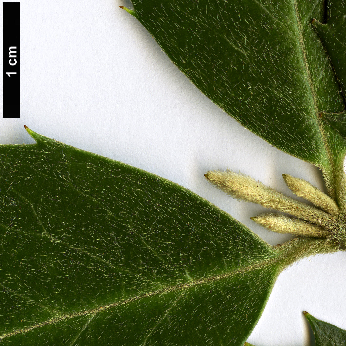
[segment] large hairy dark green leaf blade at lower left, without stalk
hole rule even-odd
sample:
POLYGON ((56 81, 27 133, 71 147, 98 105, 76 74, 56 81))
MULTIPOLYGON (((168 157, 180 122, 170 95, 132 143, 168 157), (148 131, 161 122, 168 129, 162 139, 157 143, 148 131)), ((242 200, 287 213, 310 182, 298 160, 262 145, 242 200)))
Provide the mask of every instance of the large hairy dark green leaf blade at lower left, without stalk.
POLYGON ((27 129, 0 147, 0 340, 242 345, 287 262, 201 197, 27 129))

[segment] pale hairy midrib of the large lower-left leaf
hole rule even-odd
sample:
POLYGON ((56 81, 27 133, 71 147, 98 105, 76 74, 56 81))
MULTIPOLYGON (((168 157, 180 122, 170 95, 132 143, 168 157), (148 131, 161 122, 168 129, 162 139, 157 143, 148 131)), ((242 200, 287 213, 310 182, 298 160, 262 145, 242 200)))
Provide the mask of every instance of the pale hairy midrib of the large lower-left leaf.
MULTIPOLYGON (((64 321, 64 320, 68 320, 68 319, 71 319, 71 318, 88 316, 88 315, 95 316, 99 312, 104 312, 104 311, 107 311, 107 310, 109 310, 111 308, 124 306, 126 304, 130 304, 130 303, 132 303, 134 301, 137 301, 139 299, 142 299, 142 298, 149 298, 149 297, 153 297, 154 295, 163 295, 163 294, 171 293, 171 292, 174 292, 174 291, 188 290, 188 289, 190 289, 190 288, 192 288, 194 286, 198 286, 198 285, 202 285, 202 284, 208 284, 208 283, 212 283, 212 282, 215 282, 215 281, 218 281, 218 280, 222 280, 222 279, 228 279, 228 278, 230 278, 232 276, 235 276, 235 275, 238 275, 238 274, 242 274, 242 273, 246 273, 246 272, 249 272, 249 271, 252 271, 252 270, 255 270, 255 269, 261 269, 263 267, 269 266, 269 265, 274 264, 274 263, 279 265, 279 262, 282 259, 282 256, 283 256, 282 254, 277 254, 276 257, 268 258, 267 260, 264 260, 264 261, 263 260, 262 261, 257 261, 257 262, 255 262, 253 264, 248 265, 248 266, 244 266, 244 267, 239 268, 237 270, 234 270, 234 271, 231 271, 231 272, 227 272, 227 273, 224 273, 224 274, 221 274, 221 275, 204 277, 202 279, 194 279, 194 280, 190 280, 189 282, 186 282, 186 283, 176 284, 176 285, 173 285, 173 286, 167 286, 165 288, 162 288, 162 289, 159 289, 159 290, 156 290, 156 291, 147 292, 147 293, 144 293, 144 294, 141 294, 141 295, 136 295, 134 297, 131 297, 131 298, 128 298, 128 299, 125 299, 125 300, 120 300, 120 301, 117 301, 117 302, 114 302, 114 303, 110 303, 110 304, 107 304, 105 306, 93 308, 93 309, 88 309, 88 310, 83 310, 83 311, 76 311, 76 312, 72 312, 72 313, 66 313, 66 314, 61 315, 59 317, 51 318, 51 319, 48 319, 48 320, 46 320, 44 322, 37 323, 37 324, 35 324, 35 325, 31 326, 31 327, 27 327, 27 328, 24 328, 24 329, 17 329, 17 330, 11 331, 9 333, 2 334, 2 335, 0 335, 0 342, 3 339, 9 338, 9 337, 14 336, 16 334, 27 333, 30 330, 33 330, 33 329, 36 329, 36 328, 40 328, 40 327, 44 327, 46 325, 53 325, 53 324, 56 324, 58 322, 61 322, 61 321, 64 321)), ((279 270, 277 271, 277 274, 278 273, 279 273, 279 270)))

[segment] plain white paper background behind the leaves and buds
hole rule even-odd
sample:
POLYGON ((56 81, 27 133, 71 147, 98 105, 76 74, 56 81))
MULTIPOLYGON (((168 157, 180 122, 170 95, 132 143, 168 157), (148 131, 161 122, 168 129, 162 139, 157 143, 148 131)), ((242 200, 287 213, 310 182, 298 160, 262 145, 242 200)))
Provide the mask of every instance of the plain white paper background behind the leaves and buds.
MULTIPOLYGON (((228 168, 292 196, 282 173, 325 191, 319 170, 218 109, 120 5, 131 6, 128 0, 21 1, 21 118, 1 118, 0 143, 33 143, 26 124, 183 185, 272 245, 289 239, 249 219, 264 208, 226 196, 203 175, 228 168)), ((346 329, 345 288, 345 252, 295 263, 279 276, 248 341, 310 345, 303 310, 346 329)))

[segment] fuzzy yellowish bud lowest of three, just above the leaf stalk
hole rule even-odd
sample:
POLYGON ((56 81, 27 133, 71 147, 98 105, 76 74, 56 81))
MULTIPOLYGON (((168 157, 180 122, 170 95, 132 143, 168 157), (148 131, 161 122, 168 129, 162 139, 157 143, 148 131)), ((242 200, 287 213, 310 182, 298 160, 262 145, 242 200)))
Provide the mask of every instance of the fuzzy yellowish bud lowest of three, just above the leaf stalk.
POLYGON ((283 214, 267 213, 252 217, 251 219, 257 224, 276 233, 289 233, 297 236, 318 238, 325 238, 328 236, 328 231, 322 227, 283 214))

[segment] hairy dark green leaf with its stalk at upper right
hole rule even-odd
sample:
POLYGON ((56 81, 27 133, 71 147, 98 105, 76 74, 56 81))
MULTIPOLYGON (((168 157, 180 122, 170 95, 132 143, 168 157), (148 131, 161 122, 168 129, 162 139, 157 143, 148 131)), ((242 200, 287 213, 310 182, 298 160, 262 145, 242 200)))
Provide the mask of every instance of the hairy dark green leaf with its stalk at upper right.
POLYGON ((319 117, 345 109, 311 26, 312 18, 323 19, 322 0, 132 2, 139 21, 204 94, 269 143, 320 167, 331 197, 346 208, 338 192, 346 190, 346 141, 319 117))

